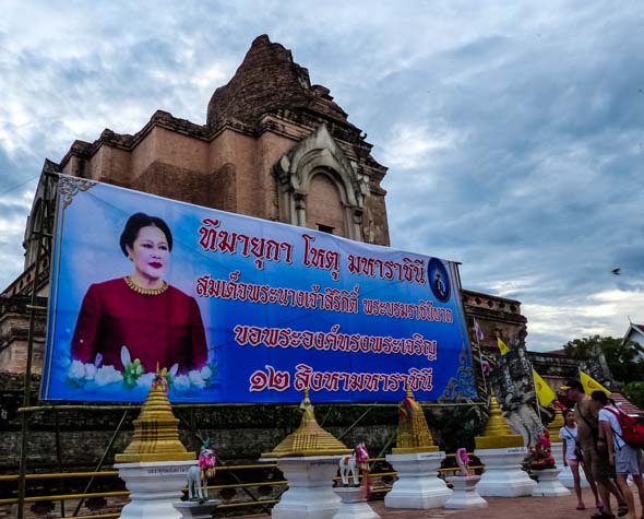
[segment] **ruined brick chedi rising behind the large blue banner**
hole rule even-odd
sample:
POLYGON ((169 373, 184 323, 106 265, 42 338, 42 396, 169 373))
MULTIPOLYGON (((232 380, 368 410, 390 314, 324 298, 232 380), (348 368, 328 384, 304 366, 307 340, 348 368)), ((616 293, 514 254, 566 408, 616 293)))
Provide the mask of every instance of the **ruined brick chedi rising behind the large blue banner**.
MULTIPOLYGON (((260 36, 228 84, 213 94, 205 125, 157 110, 134 134, 106 129, 94 142, 74 141, 60 163, 46 161, 46 168, 386 246, 386 193, 380 186, 386 168, 371 148, 329 89, 311 85, 289 50, 260 36)), ((44 182, 25 231, 25 270, 2 297, 17 300, 32 287, 33 229, 52 197, 49 191, 44 200, 44 182)), ((48 280, 40 278, 38 292, 46 297, 48 280)), ((24 369, 24 338, 12 330, 26 330, 26 311, 19 323, 0 315, 0 369, 24 369)), ((36 341, 36 371, 43 342, 36 341)))

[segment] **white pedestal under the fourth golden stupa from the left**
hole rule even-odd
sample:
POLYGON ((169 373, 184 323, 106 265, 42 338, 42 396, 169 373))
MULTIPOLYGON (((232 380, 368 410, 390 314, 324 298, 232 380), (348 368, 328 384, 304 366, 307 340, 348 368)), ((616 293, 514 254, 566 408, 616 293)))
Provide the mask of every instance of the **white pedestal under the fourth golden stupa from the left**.
POLYGON ((480 496, 520 497, 529 496, 537 486, 521 463, 527 455, 525 447, 504 449, 477 449, 474 451, 486 471, 476 485, 480 496))

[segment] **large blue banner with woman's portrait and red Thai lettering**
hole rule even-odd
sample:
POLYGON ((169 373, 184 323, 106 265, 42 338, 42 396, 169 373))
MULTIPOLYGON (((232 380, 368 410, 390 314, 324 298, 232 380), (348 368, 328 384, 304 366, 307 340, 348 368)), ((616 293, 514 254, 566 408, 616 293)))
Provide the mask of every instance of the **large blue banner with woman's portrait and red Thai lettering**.
POLYGON ((476 398, 454 263, 61 176, 41 398, 476 398))

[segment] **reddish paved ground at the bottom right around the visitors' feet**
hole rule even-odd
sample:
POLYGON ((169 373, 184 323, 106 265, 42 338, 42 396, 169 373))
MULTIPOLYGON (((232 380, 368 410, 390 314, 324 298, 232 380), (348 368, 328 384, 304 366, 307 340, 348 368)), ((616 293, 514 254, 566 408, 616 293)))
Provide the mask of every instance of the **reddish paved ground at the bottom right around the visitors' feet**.
MULTIPOLYGON (((594 504, 592 494, 584 493, 586 506, 594 504)), ((371 507, 382 519, 589 519, 597 511, 595 508, 575 510, 576 498, 565 497, 488 497, 488 508, 476 510, 401 510, 384 507, 384 502, 371 502, 371 507)), ((637 502, 636 494, 635 500, 637 502)), ((635 503, 636 518, 642 517, 640 504, 635 503)), ((617 507, 615 507, 617 510, 617 507)), ((269 515, 243 516, 250 519, 270 518, 269 515)), ((241 519, 241 518, 238 518, 241 519)))

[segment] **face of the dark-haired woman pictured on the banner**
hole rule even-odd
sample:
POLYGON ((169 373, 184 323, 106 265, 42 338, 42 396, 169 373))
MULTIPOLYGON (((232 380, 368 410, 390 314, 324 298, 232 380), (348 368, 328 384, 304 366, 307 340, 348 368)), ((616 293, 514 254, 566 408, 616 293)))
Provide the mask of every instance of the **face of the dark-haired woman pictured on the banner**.
POLYGON ((162 229, 153 225, 141 227, 132 247, 126 246, 134 270, 148 280, 163 278, 170 259, 168 240, 162 229))

